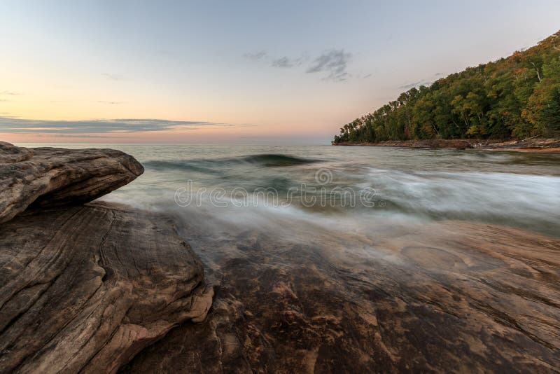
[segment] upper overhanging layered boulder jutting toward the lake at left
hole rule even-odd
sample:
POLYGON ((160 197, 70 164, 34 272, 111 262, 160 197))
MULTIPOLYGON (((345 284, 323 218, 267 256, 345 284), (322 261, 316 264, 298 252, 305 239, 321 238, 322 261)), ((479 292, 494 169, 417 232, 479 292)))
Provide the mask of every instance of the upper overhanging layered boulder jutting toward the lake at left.
POLYGON ((113 149, 21 148, 0 141, 0 223, 30 205, 90 202, 143 172, 131 155, 113 149))

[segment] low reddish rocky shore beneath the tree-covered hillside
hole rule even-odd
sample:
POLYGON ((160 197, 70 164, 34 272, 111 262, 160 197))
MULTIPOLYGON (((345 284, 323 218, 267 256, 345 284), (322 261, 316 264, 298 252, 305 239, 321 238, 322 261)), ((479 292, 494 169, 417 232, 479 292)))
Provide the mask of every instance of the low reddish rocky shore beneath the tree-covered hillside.
POLYGON ((475 139, 426 139, 426 140, 386 140, 375 143, 363 141, 345 141, 331 143, 332 146, 385 146, 400 148, 453 148, 477 149, 486 151, 515 151, 528 153, 560 153, 560 139, 533 138, 525 140, 489 140, 475 139))

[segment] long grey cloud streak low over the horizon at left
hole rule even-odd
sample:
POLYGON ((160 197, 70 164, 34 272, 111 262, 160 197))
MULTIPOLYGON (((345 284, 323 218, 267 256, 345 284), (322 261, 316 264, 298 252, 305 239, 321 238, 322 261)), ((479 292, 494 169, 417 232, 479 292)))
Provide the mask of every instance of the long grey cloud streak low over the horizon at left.
POLYGON ((205 121, 123 118, 113 120, 29 120, 0 116, 0 132, 49 134, 130 133, 163 130, 195 130, 203 126, 245 127, 205 121))

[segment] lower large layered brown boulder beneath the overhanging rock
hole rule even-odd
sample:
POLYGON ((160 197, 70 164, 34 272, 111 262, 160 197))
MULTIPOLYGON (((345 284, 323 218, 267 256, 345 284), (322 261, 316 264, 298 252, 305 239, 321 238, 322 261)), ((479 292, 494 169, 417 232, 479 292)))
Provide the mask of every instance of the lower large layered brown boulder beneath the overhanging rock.
MULTIPOLYGON (((65 158, 64 151, 35 155, 52 152, 65 158)), ((78 154, 87 153, 109 168, 102 157, 107 151, 78 154)), ((94 168, 41 160, 27 162, 43 175, 58 170, 66 181, 78 174, 81 181, 94 178, 94 168)), ((127 177, 107 178, 119 184, 127 177)), ((182 321, 204 319, 213 295, 197 256, 167 219, 101 203, 28 212, 2 223, 0 285, 3 373, 115 372, 182 321)))

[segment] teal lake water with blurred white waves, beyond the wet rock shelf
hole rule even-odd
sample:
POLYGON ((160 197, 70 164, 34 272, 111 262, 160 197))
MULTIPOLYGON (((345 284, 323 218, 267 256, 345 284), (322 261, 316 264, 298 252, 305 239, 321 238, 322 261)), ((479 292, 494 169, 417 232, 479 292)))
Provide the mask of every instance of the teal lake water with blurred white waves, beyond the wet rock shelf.
POLYGON ((464 220, 560 236, 559 154, 357 146, 52 146, 117 148, 134 155, 146 168, 144 175, 103 199, 174 214, 180 225, 201 231, 228 225, 232 232, 255 228, 305 237, 326 230, 339 237, 374 232, 388 223, 464 220))

